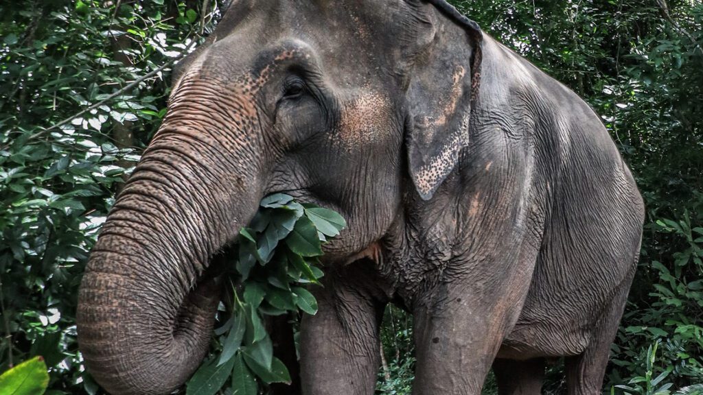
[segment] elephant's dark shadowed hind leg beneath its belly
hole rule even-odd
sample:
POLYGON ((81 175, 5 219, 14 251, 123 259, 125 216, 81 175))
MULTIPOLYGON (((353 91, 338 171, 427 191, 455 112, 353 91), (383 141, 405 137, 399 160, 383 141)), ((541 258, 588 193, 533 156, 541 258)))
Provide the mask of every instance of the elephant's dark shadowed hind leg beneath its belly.
POLYGON ((544 358, 525 361, 496 358, 493 372, 498 395, 540 395, 544 379, 544 358))

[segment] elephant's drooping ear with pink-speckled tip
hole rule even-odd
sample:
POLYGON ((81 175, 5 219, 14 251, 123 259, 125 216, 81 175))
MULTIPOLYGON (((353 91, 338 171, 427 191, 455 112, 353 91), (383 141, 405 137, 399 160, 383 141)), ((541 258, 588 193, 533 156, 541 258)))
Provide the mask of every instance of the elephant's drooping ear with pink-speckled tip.
POLYGON ((420 23, 415 24, 415 39, 404 51, 411 59, 406 96, 408 164, 415 188, 424 200, 432 198, 456 167, 460 150, 469 141, 482 58, 482 32, 476 22, 446 1, 430 3, 432 6, 421 0, 406 0, 420 23))

